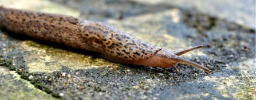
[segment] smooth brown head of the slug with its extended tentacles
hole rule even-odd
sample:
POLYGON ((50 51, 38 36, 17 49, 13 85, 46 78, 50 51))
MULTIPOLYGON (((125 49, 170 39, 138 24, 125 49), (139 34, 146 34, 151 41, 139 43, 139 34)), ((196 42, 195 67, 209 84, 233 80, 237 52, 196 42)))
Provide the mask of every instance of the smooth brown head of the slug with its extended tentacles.
POLYGON ((137 61, 133 64, 137 65, 145 65, 145 66, 155 66, 155 67, 162 67, 163 69, 166 69, 168 67, 174 67, 174 69, 179 73, 179 70, 175 65, 177 65, 178 62, 184 63, 187 65, 199 67, 200 69, 203 69, 207 71, 208 73, 211 73, 211 70, 207 69, 206 67, 203 67, 199 65, 198 63, 188 61, 187 59, 180 58, 179 55, 182 55, 184 53, 187 53, 189 51, 198 49, 200 47, 203 47, 203 45, 200 46, 195 46, 190 49, 185 49, 185 50, 179 50, 179 51, 168 51, 164 49, 160 49, 157 51, 157 53, 148 59, 144 59, 142 61, 137 61), (142 64, 144 63, 144 64, 142 64))

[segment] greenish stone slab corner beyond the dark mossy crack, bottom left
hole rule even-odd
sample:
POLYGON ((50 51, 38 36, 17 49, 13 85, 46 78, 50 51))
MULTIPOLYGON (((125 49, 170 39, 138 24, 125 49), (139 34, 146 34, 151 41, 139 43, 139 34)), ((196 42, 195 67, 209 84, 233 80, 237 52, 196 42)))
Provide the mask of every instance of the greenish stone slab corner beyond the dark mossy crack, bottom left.
POLYGON ((0 90, 0 99, 54 99, 6 67, 0 67, 0 90))

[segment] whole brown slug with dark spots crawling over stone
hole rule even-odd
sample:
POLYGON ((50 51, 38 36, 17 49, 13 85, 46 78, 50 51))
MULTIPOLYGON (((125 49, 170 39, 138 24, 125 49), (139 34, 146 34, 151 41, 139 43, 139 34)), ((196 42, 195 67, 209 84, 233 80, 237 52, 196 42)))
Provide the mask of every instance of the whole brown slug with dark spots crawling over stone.
POLYGON ((203 45, 185 50, 168 51, 100 22, 86 21, 61 14, 7 9, 0 6, 0 26, 13 33, 25 34, 31 38, 94 51, 101 57, 117 63, 162 67, 163 69, 174 67, 179 73, 175 66, 179 62, 211 73, 211 70, 206 67, 179 57, 203 45))

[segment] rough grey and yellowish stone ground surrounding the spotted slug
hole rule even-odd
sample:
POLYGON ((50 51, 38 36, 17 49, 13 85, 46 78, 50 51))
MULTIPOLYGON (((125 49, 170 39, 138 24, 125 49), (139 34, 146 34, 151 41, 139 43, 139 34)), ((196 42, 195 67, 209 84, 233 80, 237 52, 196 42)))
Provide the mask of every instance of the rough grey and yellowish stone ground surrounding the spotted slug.
POLYGON ((178 74, 172 68, 121 65, 92 52, 1 30, 0 89, 6 92, 0 95, 21 95, 0 99, 50 98, 45 93, 64 99, 255 99, 255 1, 184 2, 188 1, 0 1, 6 7, 80 14, 167 50, 203 44, 203 49, 182 57, 212 70, 207 74, 178 64, 178 74), (7 69, 11 65, 16 72, 7 69), (13 75, 23 79, 15 81, 13 75), (31 94, 13 91, 17 84, 31 94), (40 90, 45 93, 35 95, 40 90))

